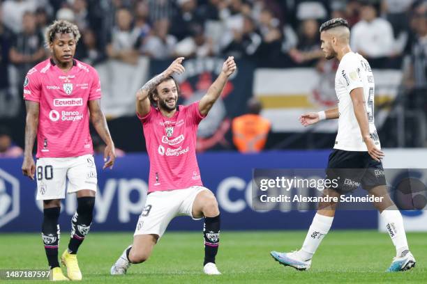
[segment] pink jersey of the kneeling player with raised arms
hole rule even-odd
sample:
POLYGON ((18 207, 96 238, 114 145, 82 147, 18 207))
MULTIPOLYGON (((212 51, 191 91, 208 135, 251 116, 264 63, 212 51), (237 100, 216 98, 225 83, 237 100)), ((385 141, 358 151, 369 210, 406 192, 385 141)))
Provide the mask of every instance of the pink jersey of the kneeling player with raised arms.
POLYGON ((179 106, 172 118, 154 107, 139 116, 150 159, 149 192, 202 185, 197 164, 197 127, 204 118, 199 103, 179 106))

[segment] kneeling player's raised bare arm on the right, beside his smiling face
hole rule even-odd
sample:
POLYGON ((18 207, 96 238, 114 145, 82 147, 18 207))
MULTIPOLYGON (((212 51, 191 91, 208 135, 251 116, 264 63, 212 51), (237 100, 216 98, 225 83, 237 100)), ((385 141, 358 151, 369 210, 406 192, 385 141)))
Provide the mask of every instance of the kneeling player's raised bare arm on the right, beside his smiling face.
POLYGON ((202 97, 202 100, 199 102, 199 111, 202 116, 206 116, 213 104, 218 100, 218 97, 223 93, 225 84, 227 83, 228 77, 233 74, 237 66, 234 63, 234 57, 229 56, 223 64, 223 70, 221 70, 218 78, 213 82, 213 84, 207 90, 206 95, 202 97))

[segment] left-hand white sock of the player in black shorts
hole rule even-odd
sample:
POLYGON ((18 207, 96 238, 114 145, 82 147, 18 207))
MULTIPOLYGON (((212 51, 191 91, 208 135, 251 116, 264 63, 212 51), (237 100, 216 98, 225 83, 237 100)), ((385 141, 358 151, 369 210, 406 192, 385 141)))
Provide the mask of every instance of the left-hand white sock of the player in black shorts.
POLYGON ((334 217, 315 214, 313 222, 308 229, 304 244, 297 253, 301 260, 306 261, 313 258, 313 254, 316 252, 320 242, 322 242, 324 235, 329 232, 332 221, 334 221, 334 217))

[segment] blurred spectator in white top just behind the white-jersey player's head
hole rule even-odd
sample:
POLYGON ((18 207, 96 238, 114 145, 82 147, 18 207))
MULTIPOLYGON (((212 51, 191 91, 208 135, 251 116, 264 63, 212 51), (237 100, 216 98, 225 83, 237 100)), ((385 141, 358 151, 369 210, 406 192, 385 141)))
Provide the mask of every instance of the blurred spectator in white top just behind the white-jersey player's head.
MULTIPOLYGON (((365 58, 384 58, 394 53, 394 37, 391 24, 377 17, 377 10, 370 2, 361 8, 361 21, 352 28, 350 45, 353 52, 365 58)), ((372 61, 370 61, 371 65, 372 61)))

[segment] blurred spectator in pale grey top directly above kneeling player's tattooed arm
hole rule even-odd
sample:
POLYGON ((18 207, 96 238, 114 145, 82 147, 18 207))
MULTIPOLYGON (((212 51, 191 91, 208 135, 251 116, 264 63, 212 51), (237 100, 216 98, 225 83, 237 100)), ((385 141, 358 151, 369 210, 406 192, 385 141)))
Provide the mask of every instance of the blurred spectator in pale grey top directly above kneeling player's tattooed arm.
POLYGON ((169 34, 169 20, 159 19, 154 23, 151 35, 142 45, 144 55, 156 59, 170 58, 174 54, 177 38, 169 34))

